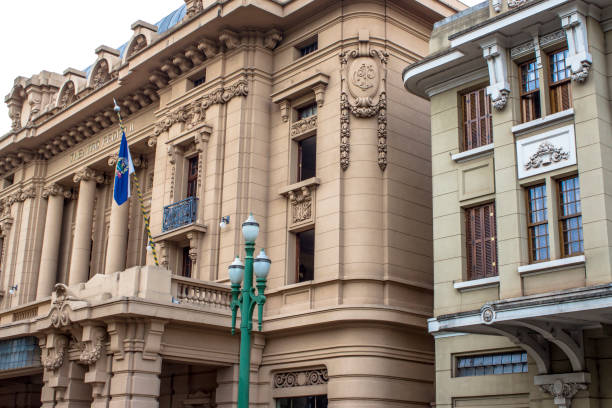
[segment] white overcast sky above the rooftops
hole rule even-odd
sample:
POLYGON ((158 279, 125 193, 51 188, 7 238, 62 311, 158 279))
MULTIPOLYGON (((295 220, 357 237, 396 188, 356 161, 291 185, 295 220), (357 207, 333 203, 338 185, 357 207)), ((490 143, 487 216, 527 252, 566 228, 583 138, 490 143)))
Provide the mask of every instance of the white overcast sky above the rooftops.
MULTIPOLYGON (((482 0, 463 0, 468 5, 482 0)), ((4 96, 17 76, 42 70, 63 73, 83 70, 96 60, 100 45, 119 47, 132 36, 136 20, 155 24, 180 7, 183 0, 0 0, 0 135, 11 122, 4 96)))

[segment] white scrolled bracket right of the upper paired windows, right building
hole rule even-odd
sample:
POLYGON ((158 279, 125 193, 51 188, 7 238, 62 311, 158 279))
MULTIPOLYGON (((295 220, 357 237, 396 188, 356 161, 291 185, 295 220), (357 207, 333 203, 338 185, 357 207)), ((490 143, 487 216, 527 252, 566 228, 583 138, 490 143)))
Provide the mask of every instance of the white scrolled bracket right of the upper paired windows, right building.
POLYGON ((572 79, 584 82, 589 76, 593 57, 589 53, 589 41, 587 38, 587 26, 585 17, 573 9, 560 15, 561 27, 565 30, 567 37, 568 58, 572 79))

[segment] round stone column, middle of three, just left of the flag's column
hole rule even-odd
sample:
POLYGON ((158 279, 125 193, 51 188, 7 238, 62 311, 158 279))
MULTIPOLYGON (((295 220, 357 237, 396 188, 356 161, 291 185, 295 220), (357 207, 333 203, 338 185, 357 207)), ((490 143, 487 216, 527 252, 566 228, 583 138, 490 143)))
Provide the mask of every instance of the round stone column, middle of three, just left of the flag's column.
POLYGON ((102 182, 103 176, 90 168, 79 170, 74 175, 74 182, 79 183, 74 240, 70 259, 69 285, 87 281, 89 277, 89 258, 91 255, 91 227, 93 224, 96 182, 102 182))

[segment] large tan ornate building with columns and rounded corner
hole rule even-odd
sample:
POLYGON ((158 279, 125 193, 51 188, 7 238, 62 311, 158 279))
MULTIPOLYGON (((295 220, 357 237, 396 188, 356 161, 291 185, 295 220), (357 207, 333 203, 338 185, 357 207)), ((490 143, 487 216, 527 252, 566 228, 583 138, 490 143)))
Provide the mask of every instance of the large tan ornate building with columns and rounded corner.
POLYGON ((272 259, 252 404, 427 406, 429 107, 401 70, 462 8, 186 0, 85 70, 17 78, 0 138, 0 406, 235 406, 227 267, 249 212, 272 259), (137 177, 122 206, 113 98, 137 177))

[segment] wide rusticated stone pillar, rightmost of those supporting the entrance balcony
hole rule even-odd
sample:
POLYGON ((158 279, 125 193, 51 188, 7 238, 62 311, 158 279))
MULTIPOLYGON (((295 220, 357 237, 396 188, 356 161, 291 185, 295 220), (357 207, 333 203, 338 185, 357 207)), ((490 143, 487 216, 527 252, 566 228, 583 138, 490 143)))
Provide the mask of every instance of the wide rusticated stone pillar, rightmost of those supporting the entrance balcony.
POLYGON ((153 319, 109 323, 113 352, 109 408, 159 407, 164 325, 153 319))

